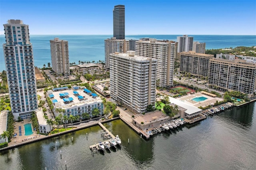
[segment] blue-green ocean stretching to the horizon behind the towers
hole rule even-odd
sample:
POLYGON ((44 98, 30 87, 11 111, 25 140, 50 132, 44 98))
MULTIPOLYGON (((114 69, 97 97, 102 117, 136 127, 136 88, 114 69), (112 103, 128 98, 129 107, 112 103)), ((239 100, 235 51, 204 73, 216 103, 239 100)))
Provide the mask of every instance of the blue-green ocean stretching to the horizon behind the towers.
MULTIPOLYGON (((140 38, 156 38, 158 40, 176 41, 177 36, 182 35, 130 35, 127 40, 139 40, 140 38)), ((218 49, 225 47, 253 46, 256 45, 256 36, 223 36, 223 35, 189 35, 194 41, 205 42, 207 49, 218 49)), ((70 63, 78 61, 99 61, 105 60, 104 40, 111 35, 30 35, 30 42, 33 44, 34 64, 43 67, 51 63, 50 40, 55 37, 61 40, 68 40, 70 63)), ((2 44, 5 43, 4 35, 0 35, 0 71, 5 69, 4 53, 2 44)))

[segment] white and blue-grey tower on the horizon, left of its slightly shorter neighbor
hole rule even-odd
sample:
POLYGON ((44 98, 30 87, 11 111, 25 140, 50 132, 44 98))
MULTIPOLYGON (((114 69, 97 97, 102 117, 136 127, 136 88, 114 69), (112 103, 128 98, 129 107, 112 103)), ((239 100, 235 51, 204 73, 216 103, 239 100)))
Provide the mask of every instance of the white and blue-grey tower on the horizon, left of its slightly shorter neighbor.
POLYGON ((183 51, 188 52, 192 51, 193 49, 193 37, 188 37, 188 35, 183 35, 177 37, 177 42, 178 42, 178 48, 177 52, 181 53, 183 51))

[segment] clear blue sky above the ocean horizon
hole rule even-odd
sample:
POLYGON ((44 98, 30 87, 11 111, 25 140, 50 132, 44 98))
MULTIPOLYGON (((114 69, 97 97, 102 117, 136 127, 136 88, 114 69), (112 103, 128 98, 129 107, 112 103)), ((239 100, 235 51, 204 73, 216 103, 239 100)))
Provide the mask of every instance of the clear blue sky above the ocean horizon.
POLYGON ((118 4, 126 35, 256 35, 255 0, 0 0, 0 34, 20 19, 32 35, 112 35, 118 4))

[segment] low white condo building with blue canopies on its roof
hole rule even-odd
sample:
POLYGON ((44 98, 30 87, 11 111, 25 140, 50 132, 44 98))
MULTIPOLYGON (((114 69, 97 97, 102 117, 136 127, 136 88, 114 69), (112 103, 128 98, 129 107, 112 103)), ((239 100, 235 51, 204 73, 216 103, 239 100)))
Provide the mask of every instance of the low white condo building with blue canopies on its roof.
POLYGON ((54 105, 54 115, 80 116, 88 113, 92 117, 92 111, 97 108, 103 115, 103 103, 100 97, 84 87, 60 87, 47 91, 54 105), (56 110, 57 109, 57 110, 56 110), (62 109, 62 111, 61 111, 62 109))

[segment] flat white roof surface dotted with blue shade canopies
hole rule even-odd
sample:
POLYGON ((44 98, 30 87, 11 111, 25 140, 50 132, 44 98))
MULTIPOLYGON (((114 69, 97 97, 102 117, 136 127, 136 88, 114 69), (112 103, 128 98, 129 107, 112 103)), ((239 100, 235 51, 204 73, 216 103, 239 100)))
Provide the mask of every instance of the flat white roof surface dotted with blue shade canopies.
MULTIPOLYGON (((87 90, 87 89, 86 89, 87 90)), ((95 93, 85 93, 84 88, 80 89, 61 89, 59 91, 48 91, 48 95, 51 98, 53 103, 58 103, 56 107, 64 106, 68 107, 68 105, 83 105, 84 103, 93 103, 95 101, 102 102, 98 95, 93 97, 95 93), (92 95, 91 95, 92 94, 92 95), (53 96, 52 96, 53 95, 53 96), (64 100, 70 100, 70 103, 64 102, 64 100)))

